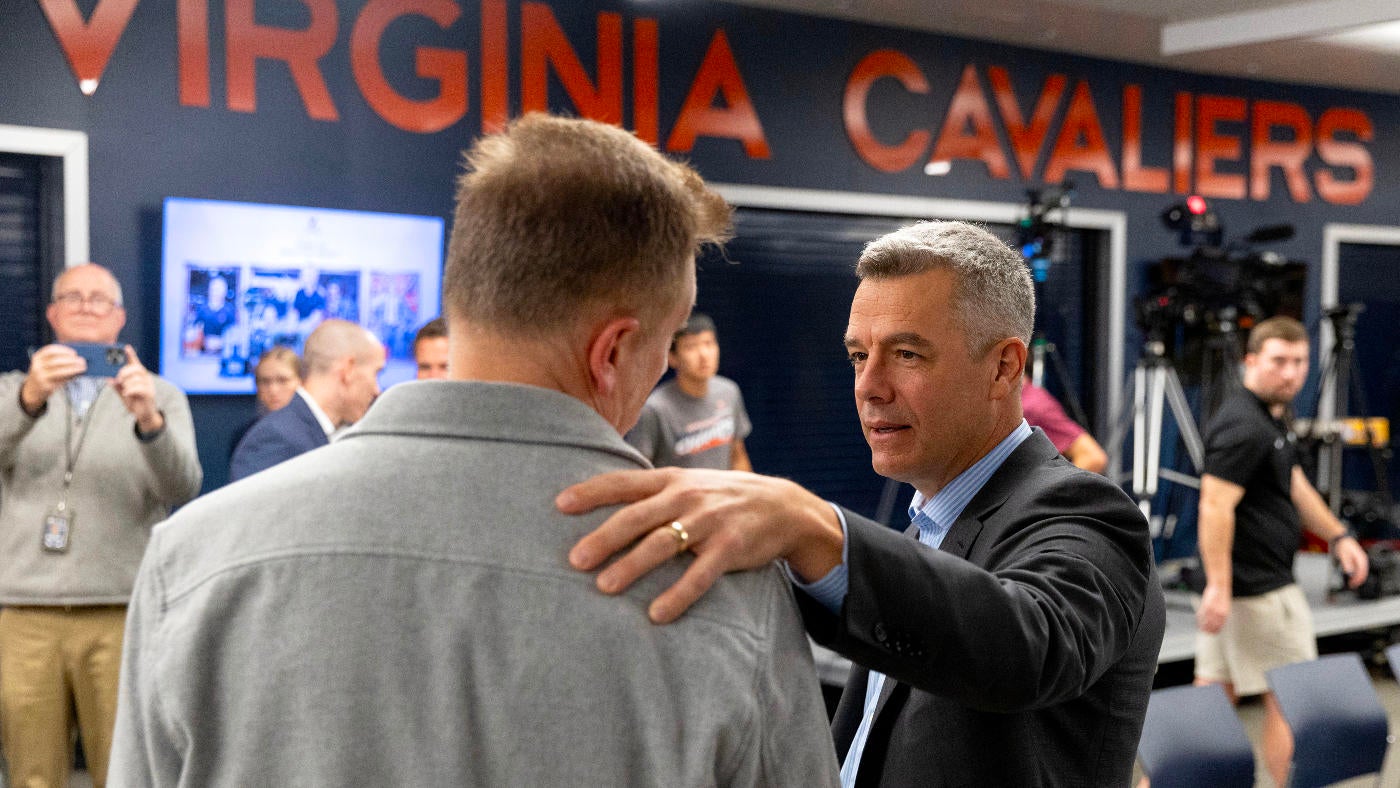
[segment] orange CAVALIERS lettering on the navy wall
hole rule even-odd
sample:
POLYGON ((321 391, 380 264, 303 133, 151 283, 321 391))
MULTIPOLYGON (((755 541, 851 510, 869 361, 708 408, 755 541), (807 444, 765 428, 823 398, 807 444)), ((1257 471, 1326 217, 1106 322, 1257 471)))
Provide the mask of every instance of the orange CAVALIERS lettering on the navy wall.
POLYGON ((967 64, 942 119, 903 130, 903 139, 889 144, 871 132, 876 108, 869 105, 871 87, 886 77, 910 94, 931 92, 914 60, 893 49, 871 52, 851 70, 843 102, 846 134, 857 155, 882 172, 900 172, 923 161, 969 161, 979 162, 991 178, 1009 179, 1014 160, 1018 175, 1029 181, 1037 176, 1036 162, 1044 155, 1039 181, 1046 183, 1060 182, 1074 171, 1091 174, 1103 189, 1148 193, 1170 189, 1207 197, 1267 200, 1278 171, 1294 202, 1306 203, 1316 192, 1334 204, 1364 202, 1375 183, 1375 165, 1365 144, 1375 132, 1371 118, 1359 109, 1329 108, 1313 122, 1306 109, 1292 102, 1179 92, 1172 105, 1170 151, 1144 151, 1142 87, 1124 84, 1123 136, 1120 148, 1113 151, 1088 80, 1077 81, 1065 99, 1067 77, 1050 74, 1026 120, 1007 69, 988 66, 983 74, 967 64), (983 77, 990 84, 991 101, 983 77), (1060 126, 1051 129, 1061 108, 1060 126), (930 132, 934 127, 937 137, 930 132), (1002 137, 1011 143, 1009 157, 1002 137), (1161 164, 1145 161, 1152 153, 1162 158, 1161 164), (1313 154, 1322 165, 1313 167, 1309 178, 1313 154))

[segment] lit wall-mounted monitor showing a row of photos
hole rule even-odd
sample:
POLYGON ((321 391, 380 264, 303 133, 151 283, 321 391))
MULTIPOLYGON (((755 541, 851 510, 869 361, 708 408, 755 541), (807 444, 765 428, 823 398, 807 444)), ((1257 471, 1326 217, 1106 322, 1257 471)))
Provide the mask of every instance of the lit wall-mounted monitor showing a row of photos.
POLYGON ((161 375, 252 393, 265 350, 301 353, 343 318, 384 342, 385 386, 413 378, 413 335, 441 309, 442 234, 428 216, 167 199, 161 375))

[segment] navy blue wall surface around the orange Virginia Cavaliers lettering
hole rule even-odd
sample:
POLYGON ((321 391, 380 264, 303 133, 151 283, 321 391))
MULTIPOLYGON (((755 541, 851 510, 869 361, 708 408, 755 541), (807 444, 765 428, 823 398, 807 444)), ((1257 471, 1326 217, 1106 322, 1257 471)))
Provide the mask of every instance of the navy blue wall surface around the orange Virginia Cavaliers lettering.
MULTIPOLYGON (((71 0, 59 0, 67 3, 71 0)), ((308 24, 308 8, 330 0, 259 0, 262 25, 290 29, 308 24)), ((676 122, 699 64, 717 32, 732 48, 753 111, 769 144, 767 158, 753 158, 735 139, 701 136, 682 151, 710 179, 805 189, 839 189, 889 195, 958 197, 1021 203, 1026 188, 1039 186, 1040 167, 1032 178, 1016 172, 1004 126, 997 136, 1008 160, 1009 178, 988 176, 979 161, 953 161, 946 176, 923 174, 921 162, 899 172, 882 172, 857 153, 843 125, 843 91, 853 69, 869 53, 893 49, 917 64, 928 91, 914 94, 895 80, 876 83, 869 98, 875 134, 893 144, 910 130, 938 134, 963 69, 976 66, 988 104, 987 69, 1005 67, 1021 111, 1030 115, 1035 98, 1049 74, 1064 74, 1068 90, 1089 84, 1107 150, 1119 158, 1123 139, 1123 85, 1142 87, 1142 158, 1151 167, 1169 167, 1172 155, 1173 101, 1179 91, 1271 99, 1302 106, 1313 122, 1329 108, 1364 112, 1373 139, 1364 144, 1373 161, 1373 188, 1361 204, 1340 206, 1313 192, 1310 202, 1295 203, 1274 172, 1271 197, 1214 200, 1229 235, 1250 227, 1289 221, 1298 228, 1292 241, 1275 248, 1292 258, 1316 262, 1322 227, 1327 221, 1394 224, 1400 204, 1400 102, 1394 97, 1322 90, 1109 63, 1058 53, 1037 52, 921 32, 759 11, 721 3, 588 3, 553 0, 518 3, 487 0, 501 7, 508 28, 507 78, 510 108, 521 99, 521 18, 549 11, 578 53, 584 70, 596 76, 595 41, 599 13, 616 13, 623 28, 623 122, 634 118, 631 43, 638 21, 655 21, 659 39, 659 130, 665 141, 676 122)), ((90 14, 94 3, 78 4, 90 14)), ((466 52, 468 106, 456 123, 433 133, 402 130, 386 122, 365 101, 351 71, 351 28, 361 15, 361 0, 336 0, 335 43, 319 59, 319 71, 339 112, 337 120, 308 116, 286 64, 263 60, 256 69, 258 108, 239 112, 227 106, 224 3, 210 0, 210 102, 183 106, 179 90, 176 21, 171 3, 140 3, 106 63, 94 95, 78 91, 77 80, 38 3, 15 1, 0 7, 0 123, 76 129, 90 136, 91 154, 91 256, 112 267, 127 288, 130 325, 127 339, 143 358, 155 363, 157 304, 160 293, 160 206, 167 196, 290 203, 337 209, 384 210, 451 217, 452 182, 459 172, 459 151, 482 129, 483 78, 482 3, 461 4, 461 17, 445 29, 421 17, 392 22, 378 46, 384 70, 400 92, 430 98, 435 87, 414 76, 413 57, 420 46, 466 52)), ((608 22, 603 18, 603 22, 608 22)), ((610 22, 608 22, 610 24, 610 22)), ((71 31, 69 38, 71 38, 71 31)), ((486 69, 496 73, 493 67, 486 69)), ((549 78, 549 104, 578 112, 563 81, 549 78)), ((724 106, 720 97, 715 106, 724 106)), ((1051 123, 1046 148, 1060 127, 1051 123)), ((1226 174, 1247 174, 1247 122, 1225 122, 1218 129, 1242 136, 1240 161, 1221 162, 1226 174)), ((1345 139, 1345 134, 1343 136, 1345 139)), ((925 151, 925 157, 927 157, 925 151)), ((1042 153, 1040 165, 1044 162, 1042 153)), ((1345 169, 1324 167, 1316 155, 1309 175, 1345 169)), ((1173 237, 1158 220, 1179 196, 1103 189, 1086 172, 1070 174, 1078 183, 1075 206, 1126 211, 1128 217, 1128 284, 1137 293, 1148 262, 1177 252, 1173 237)), ((1309 273, 1308 301, 1317 300, 1316 266, 1309 273)), ((1316 322, 1316 308, 1309 319, 1316 322)), ((1131 319, 1130 319, 1131 325, 1131 319)), ((1130 337, 1130 347, 1135 339, 1130 337)), ((732 371, 731 371, 732 372, 732 371)), ((736 375, 739 377, 739 375, 736 375)), ((210 483, 223 479, 223 455, 234 428, 251 417, 246 397, 199 397, 202 455, 210 483)))

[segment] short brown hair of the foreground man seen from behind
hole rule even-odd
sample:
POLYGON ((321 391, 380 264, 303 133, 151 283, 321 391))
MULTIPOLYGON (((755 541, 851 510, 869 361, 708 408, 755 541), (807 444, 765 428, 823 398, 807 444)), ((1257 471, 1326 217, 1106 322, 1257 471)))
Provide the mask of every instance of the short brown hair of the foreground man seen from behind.
POLYGON ((532 336, 608 302, 675 307, 729 206, 689 167, 631 133, 531 113, 466 153, 442 295, 451 319, 532 336))

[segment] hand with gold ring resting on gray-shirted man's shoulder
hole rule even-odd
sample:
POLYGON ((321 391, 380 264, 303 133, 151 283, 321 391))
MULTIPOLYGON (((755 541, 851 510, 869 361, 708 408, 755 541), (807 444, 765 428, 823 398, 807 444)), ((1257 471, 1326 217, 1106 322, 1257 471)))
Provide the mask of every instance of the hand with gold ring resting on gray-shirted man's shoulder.
POLYGON ((668 526, 685 526, 696 560, 651 603, 648 614, 658 624, 676 620, 724 572, 784 558, 799 577, 816 581, 841 561, 836 512, 785 479, 735 470, 620 470, 568 487, 554 504, 564 514, 630 504, 568 553, 575 568, 588 571, 626 550, 598 574, 603 593, 620 593, 673 558, 676 539, 668 526))

